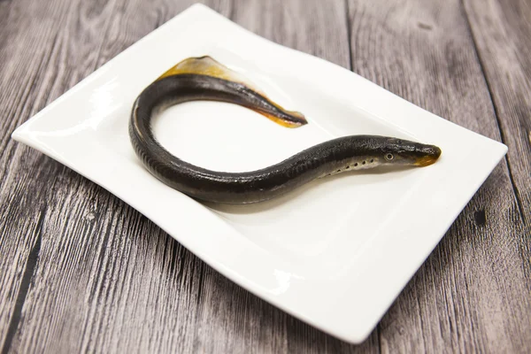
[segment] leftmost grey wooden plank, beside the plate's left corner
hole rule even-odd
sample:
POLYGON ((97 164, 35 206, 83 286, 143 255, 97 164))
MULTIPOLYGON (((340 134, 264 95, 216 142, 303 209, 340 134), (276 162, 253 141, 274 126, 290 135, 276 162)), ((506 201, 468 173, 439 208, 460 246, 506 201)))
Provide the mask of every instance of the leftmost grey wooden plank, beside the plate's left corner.
MULTIPOLYGON (((15 127, 42 108, 42 82, 47 81, 59 28, 69 4, 4 2, 0 32, 0 348, 11 345, 19 325, 46 213, 48 191, 63 169, 10 135, 15 127), (39 13, 42 21, 32 16, 39 13), (27 28, 28 35, 19 28, 27 28), (24 41, 21 41, 24 37, 24 41), (21 46, 19 42, 26 45, 21 46), (19 58, 35 58, 20 61, 19 58), (31 256, 31 258, 30 258, 31 256)), ((3 350, 4 351, 4 350, 3 350)))

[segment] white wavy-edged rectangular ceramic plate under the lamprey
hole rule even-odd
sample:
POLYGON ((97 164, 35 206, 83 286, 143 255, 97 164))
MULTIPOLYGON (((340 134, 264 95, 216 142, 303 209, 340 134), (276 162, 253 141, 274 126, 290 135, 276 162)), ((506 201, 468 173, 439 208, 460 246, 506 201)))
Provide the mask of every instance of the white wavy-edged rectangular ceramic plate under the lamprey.
POLYGON ((243 288, 347 342, 362 342, 507 151, 355 73, 253 35, 196 4, 113 58, 12 135, 119 196, 243 288), (435 164, 343 173, 252 206, 197 203, 152 177, 127 122, 135 97, 183 58, 211 55, 304 112, 287 129, 196 102, 155 124, 174 154, 217 170, 273 164, 335 136, 438 145, 435 164))

